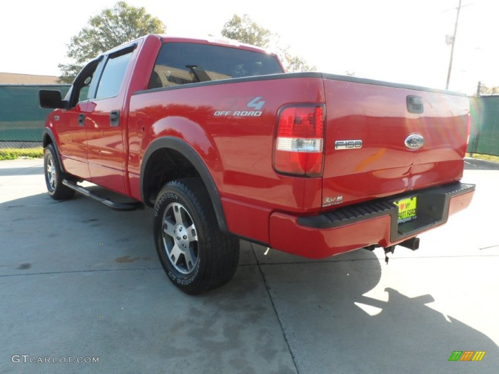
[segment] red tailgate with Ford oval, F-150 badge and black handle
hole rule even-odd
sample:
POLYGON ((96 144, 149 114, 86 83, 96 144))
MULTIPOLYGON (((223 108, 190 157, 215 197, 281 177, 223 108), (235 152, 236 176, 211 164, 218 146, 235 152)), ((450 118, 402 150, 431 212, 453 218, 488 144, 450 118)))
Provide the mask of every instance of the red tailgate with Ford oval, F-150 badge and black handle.
POLYGON ((469 120, 465 95, 323 77, 323 207, 461 179, 469 120))

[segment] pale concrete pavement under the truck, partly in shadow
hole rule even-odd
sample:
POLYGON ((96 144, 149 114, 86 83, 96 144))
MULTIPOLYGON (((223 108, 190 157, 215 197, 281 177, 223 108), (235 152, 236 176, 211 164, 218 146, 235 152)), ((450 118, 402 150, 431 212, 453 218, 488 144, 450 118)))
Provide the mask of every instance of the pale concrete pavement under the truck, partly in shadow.
POLYGON ((0 373, 497 373, 499 171, 464 182, 472 206, 388 265, 242 242, 234 279, 192 297, 157 260, 152 210, 56 202, 42 160, 2 161, 0 373))

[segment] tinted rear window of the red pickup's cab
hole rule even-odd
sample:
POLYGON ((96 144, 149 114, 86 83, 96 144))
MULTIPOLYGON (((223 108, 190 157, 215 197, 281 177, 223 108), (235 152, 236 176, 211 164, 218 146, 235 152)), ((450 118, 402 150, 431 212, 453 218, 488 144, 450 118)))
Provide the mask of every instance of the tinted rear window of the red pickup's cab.
POLYGON ((198 43, 164 43, 149 88, 282 73, 274 56, 198 43))

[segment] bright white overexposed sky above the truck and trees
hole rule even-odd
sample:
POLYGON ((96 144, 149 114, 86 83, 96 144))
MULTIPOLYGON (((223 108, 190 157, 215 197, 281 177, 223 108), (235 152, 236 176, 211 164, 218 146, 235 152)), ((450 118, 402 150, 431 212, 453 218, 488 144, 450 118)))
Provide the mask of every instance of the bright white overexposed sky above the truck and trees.
MULTIPOLYGON (((0 13, 0 72, 60 75, 70 37, 117 0, 8 1, 0 13)), ((459 0, 128 0, 160 18, 167 34, 220 36, 248 14, 318 71, 445 88, 459 0)), ((497 0, 462 0, 449 89, 499 86, 497 0)))

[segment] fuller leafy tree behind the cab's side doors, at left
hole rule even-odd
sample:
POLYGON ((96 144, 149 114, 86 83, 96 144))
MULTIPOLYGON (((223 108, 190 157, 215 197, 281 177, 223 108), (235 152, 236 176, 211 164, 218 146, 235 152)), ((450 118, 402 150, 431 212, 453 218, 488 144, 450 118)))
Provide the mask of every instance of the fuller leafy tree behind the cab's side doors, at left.
POLYGON ((146 13, 144 7, 134 7, 118 1, 112 8, 103 9, 90 17, 88 24, 71 37, 67 56, 73 61, 59 64, 60 83, 71 83, 85 62, 127 41, 146 34, 164 33, 166 26, 159 18, 146 13))

